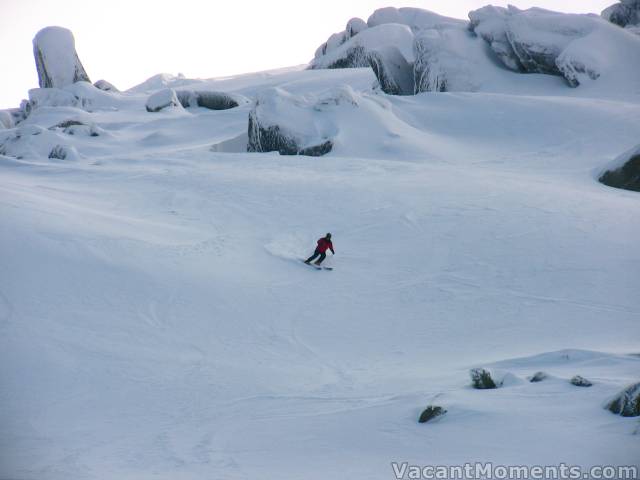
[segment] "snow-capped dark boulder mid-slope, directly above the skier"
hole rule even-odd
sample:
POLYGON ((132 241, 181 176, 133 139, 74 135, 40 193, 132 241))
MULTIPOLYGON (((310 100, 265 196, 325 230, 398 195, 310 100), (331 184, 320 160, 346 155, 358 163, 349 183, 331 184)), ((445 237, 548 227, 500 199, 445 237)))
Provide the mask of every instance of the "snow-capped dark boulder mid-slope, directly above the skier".
POLYGON ((316 119, 316 104, 273 88, 258 97, 249 113, 248 152, 325 155, 333 142, 316 119))

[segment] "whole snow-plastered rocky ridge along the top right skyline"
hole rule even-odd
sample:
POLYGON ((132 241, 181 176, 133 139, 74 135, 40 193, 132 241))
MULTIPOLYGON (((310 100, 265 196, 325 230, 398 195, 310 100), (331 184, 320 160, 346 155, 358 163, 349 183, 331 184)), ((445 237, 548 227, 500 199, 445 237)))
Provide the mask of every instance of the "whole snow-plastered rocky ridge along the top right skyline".
POLYGON ((640 39, 599 17, 487 6, 469 18, 464 22, 415 8, 376 10, 366 28, 352 19, 345 31, 332 35, 309 68, 371 66, 381 89, 396 95, 482 91, 517 82, 496 65, 481 38, 513 72, 562 76, 571 87, 601 77, 602 88, 638 86, 640 39), (406 81, 411 76, 413 86, 406 81))

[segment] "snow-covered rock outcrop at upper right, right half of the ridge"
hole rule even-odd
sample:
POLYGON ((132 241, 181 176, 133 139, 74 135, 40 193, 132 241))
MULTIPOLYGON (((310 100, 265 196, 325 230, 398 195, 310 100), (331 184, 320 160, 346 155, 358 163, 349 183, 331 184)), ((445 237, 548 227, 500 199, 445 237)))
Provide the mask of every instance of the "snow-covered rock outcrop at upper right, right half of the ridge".
POLYGON ((471 30, 514 71, 561 75, 577 87, 601 76, 619 83, 640 68, 640 41, 593 15, 487 6, 469 19, 471 30))

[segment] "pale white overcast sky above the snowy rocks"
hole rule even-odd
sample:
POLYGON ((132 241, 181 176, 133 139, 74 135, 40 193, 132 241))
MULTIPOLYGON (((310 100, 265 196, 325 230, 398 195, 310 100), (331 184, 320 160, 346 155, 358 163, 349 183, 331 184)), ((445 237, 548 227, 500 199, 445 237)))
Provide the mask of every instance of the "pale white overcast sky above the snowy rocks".
MULTIPOLYGON (((160 72, 209 78, 307 63, 315 49, 385 6, 467 18, 487 0, 0 0, 0 108, 38 86, 31 40, 48 25, 69 28, 92 81, 124 90, 160 72)), ((494 1, 520 8, 594 12, 615 0, 494 1)))

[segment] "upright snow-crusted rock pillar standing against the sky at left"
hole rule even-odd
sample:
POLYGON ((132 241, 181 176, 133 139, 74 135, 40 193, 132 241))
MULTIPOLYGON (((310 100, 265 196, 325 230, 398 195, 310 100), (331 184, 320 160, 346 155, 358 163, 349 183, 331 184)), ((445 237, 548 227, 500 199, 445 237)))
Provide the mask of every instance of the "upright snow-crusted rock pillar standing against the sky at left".
POLYGON ((41 88, 91 81, 76 53, 73 34, 66 28, 46 27, 40 30, 33 39, 33 55, 41 88))

